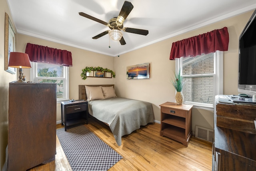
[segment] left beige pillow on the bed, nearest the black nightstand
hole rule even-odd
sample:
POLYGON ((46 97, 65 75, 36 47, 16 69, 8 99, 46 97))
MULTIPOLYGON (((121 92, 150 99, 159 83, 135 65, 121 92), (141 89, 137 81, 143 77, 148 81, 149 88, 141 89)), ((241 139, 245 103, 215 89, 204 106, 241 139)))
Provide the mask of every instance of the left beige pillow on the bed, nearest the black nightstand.
POLYGON ((98 87, 91 87, 87 85, 84 85, 84 86, 86 90, 87 101, 104 99, 104 95, 102 93, 102 89, 100 86, 98 87))

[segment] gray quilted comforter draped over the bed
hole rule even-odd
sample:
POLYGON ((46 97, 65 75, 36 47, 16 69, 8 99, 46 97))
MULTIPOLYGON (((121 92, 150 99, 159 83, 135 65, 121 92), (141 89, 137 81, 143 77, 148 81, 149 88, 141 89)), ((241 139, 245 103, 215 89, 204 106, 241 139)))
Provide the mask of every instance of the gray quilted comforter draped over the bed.
POLYGON ((146 101, 114 97, 88 104, 90 115, 109 125, 119 146, 123 135, 154 121, 152 104, 146 101))

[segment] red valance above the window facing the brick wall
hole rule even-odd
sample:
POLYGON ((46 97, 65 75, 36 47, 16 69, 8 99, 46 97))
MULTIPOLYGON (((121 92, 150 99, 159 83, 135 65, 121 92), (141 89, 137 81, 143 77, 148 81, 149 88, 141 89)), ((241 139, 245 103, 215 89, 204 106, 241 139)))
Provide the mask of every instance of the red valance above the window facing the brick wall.
POLYGON ((173 42, 170 60, 180 57, 210 54, 216 52, 216 50, 226 51, 228 50, 228 42, 227 27, 173 42))

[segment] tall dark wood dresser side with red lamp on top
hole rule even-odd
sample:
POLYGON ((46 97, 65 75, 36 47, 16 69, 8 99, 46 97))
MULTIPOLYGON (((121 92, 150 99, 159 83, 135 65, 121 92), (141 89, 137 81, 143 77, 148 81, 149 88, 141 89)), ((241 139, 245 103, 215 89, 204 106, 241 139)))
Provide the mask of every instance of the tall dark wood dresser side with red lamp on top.
POLYGON ((56 84, 10 83, 8 171, 55 159, 56 84))

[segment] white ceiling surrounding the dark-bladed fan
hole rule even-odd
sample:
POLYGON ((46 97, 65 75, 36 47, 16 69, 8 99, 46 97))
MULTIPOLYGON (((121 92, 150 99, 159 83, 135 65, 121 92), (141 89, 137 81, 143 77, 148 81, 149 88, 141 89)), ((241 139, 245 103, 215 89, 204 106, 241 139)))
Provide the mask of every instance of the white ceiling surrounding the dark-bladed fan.
POLYGON ((148 30, 149 34, 143 36, 124 32, 126 45, 120 45, 119 42, 109 40, 108 34, 96 40, 92 39, 110 29, 80 16, 78 12, 108 22, 118 16, 124 0, 8 0, 13 24, 18 33, 110 56, 117 56, 256 8, 256 0, 130 2, 134 8, 126 18, 124 27, 148 30))

